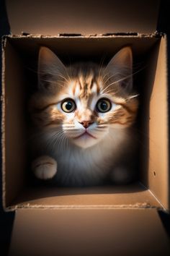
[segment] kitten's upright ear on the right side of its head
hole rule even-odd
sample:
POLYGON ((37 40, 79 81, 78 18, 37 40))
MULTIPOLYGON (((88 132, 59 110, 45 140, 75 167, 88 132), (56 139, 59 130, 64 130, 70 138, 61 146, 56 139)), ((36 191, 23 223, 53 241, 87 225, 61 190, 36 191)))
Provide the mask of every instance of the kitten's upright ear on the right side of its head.
POLYGON ((109 61, 105 69, 113 82, 119 82, 122 88, 131 91, 133 88, 133 54, 129 46, 122 48, 109 61))

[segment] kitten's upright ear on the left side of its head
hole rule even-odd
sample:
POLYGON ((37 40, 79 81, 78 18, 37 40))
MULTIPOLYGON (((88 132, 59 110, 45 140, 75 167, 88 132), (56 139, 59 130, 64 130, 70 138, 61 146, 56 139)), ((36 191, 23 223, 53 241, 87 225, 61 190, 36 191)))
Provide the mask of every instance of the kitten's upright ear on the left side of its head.
POLYGON ((66 76, 66 67, 53 51, 40 47, 38 56, 38 85, 40 89, 49 89, 54 82, 66 76))

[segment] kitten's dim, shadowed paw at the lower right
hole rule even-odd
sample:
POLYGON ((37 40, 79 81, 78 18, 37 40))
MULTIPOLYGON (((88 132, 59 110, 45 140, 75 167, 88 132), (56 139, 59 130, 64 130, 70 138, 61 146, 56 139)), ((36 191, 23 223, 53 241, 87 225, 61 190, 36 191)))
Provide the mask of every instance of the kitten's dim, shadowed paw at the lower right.
POLYGON ((115 184, 128 184, 133 177, 132 174, 130 174, 129 168, 117 166, 112 171, 110 178, 115 184))

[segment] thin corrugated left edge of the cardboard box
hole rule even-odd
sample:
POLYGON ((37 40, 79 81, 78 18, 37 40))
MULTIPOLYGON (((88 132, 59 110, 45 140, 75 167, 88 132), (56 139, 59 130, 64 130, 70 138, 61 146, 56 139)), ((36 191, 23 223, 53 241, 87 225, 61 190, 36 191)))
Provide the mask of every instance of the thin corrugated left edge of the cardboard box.
POLYGON ((2 207, 6 211, 6 179, 5 179, 5 53, 6 36, 2 38, 2 74, 1 74, 1 171, 2 171, 2 207))

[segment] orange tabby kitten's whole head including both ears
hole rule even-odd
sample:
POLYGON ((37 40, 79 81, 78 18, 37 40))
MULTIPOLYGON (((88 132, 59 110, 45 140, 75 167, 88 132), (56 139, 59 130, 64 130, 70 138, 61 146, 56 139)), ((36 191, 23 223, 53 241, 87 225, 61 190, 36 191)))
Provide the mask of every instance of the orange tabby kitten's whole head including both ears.
POLYGON ((65 67, 42 47, 38 72, 40 90, 32 97, 31 111, 41 129, 55 129, 63 140, 89 148, 135 121, 138 101, 132 93, 129 47, 122 48, 107 67, 91 63, 65 67))

